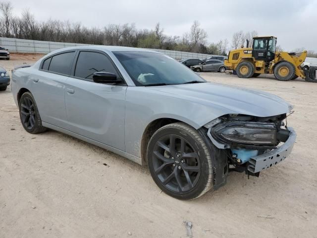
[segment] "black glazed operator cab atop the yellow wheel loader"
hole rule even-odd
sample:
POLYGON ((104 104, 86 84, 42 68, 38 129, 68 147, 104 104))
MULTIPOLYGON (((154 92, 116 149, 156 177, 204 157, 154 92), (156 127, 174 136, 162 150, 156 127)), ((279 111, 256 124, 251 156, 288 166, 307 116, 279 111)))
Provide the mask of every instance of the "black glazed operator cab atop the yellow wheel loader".
POLYGON ((269 62, 274 60, 276 51, 276 37, 254 37, 252 45, 252 56, 256 60, 264 60, 269 62))

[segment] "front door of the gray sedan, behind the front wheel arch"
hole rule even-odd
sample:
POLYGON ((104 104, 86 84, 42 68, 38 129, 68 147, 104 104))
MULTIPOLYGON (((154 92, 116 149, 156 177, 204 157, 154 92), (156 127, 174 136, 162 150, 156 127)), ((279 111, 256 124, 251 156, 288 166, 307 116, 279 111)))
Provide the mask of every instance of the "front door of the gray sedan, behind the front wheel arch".
MULTIPOLYGON (((99 51, 80 51, 67 79, 67 129, 124 150, 126 85, 95 83, 94 72, 111 72, 122 78, 112 60, 99 51)), ((123 79, 122 79, 123 80, 123 79)))

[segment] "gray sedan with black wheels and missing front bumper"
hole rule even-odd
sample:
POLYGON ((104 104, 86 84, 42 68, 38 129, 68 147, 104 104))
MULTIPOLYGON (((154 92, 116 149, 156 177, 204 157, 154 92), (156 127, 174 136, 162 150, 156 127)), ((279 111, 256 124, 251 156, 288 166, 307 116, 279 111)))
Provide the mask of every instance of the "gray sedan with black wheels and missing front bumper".
POLYGON ((259 176, 288 156, 296 138, 284 126, 292 106, 283 99, 207 82, 143 49, 54 51, 14 68, 12 94, 27 132, 50 128, 147 165, 178 199, 218 189, 231 170, 259 176))

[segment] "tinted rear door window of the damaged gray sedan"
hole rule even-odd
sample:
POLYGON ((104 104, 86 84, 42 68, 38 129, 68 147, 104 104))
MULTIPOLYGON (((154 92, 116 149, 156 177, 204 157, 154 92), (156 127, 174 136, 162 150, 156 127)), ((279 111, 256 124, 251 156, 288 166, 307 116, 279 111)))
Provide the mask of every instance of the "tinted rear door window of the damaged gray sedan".
POLYGON ((52 57, 49 71, 70 74, 75 52, 67 52, 52 57))

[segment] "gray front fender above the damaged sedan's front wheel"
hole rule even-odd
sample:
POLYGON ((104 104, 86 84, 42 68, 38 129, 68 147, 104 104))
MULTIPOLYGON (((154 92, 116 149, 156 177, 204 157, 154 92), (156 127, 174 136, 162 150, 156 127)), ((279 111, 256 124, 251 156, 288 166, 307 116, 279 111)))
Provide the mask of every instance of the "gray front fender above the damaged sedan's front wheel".
POLYGON ((146 92, 144 87, 128 87, 125 110, 125 151, 141 157, 141 140, 147 126, 156 119, 176 119, 198 129, 220 116, 228 114, 223 108, 208 107, 171 96, 146 92), (142 95, 142 97, 140 97, 142 95))

